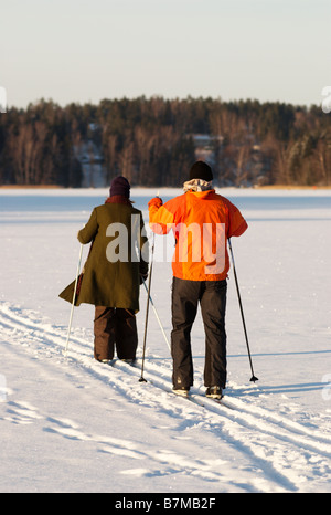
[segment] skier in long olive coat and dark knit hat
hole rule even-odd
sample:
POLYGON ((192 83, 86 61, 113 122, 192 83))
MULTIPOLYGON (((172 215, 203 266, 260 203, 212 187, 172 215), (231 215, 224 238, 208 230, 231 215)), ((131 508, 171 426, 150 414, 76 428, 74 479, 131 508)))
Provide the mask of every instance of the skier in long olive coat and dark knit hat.
MULTIPOLYGON (((92 242, 81 274, 75 305, 95 305, 95 348, 98 361, 114 358, 135 360, 138 347, 136 313, 139 291, 148 274, 148 239, 142 213, 132 207, 130 185, 117 177, 110 197, 95 208, 87 224, 78 232, 83 244, 92 242)), ((73 302, 74 283, 60 297, 73 302)))

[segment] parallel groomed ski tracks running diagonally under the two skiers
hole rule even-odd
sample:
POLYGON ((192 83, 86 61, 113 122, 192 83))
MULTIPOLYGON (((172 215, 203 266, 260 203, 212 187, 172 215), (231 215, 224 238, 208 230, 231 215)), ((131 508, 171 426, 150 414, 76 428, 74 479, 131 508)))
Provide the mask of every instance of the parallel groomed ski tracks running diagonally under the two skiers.
MULTIPOLYGON (((24 340, 26 348, 32 353, 45 353, 46 356, 56 357, 57 360, 65 362, 63 349, 66 332, 64 329, 32 319, 25 312, 12 308, 8 304, 0 305, 0 325, 11 343, 24 340), (35 344, 39 345, 38 349, 35 344)), ((90 341, 73 334, 68 359, 83 366, 99 380, 116 385, 118 391, 132 402, 138 401, 140 404, 146 403, 161 409, 164 400, 162 396, 160 398, 160 390, 162 390, 163 395, 172 396, 173 409, 180 406, 183 410, 185 409, 188 400, 177 398, 171 392, 170 365, 156 364, 151 361, 151 358, 146 360, 146 379, 150 382, 147 390, 143 385, 138 387, 139 368, 121 361, 116 361, 113 367, 102 366, 92 358, 92 347, 90 341), (132 388, 132 380, 137 381, 137 388, 132 388)), ((239 446, 246 455, 250 455, 270 479, 274 477, 275 481, 275 474, 278 475, 279 484, 286 490, 295 492, 299 488, 302 460, 307 465, 311 463, 316 467, 320 465, 324 471, 324 476, 331 479, 329 465, 331 435, 312 431, 268 409, 253 406, 256 399, 248 402, 232 395, 226 396, 225 402, 233 408, 229 410, 222 403, 202 398, 197 388, 192 391, 193 398, 199 396, 197 402, 191 403, 191 409, 196 411, 196 417, 200 419, 204 417, 212 423, 220 423, 221 434, 226 434, 231 443, 239 446), (252 438, 248 438, 249 435, 252 438), (290 458, 287 455, 288 451, 290 451, 290 458), (296 458, 300 460, 298 465, 296 458)))

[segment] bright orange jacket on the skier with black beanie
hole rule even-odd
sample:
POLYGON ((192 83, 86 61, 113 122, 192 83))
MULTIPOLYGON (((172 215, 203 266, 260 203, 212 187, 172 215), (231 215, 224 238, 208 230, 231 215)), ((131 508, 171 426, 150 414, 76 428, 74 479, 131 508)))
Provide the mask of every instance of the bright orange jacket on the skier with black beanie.
POLYGON ((173 231, 173 275, 190 281, 227 277, 227 239, 242 235, 247 223, 241 211, 215 190, 186 192, 164 206, 158 197, 149 202, 149 223, 157 234, 173 231))

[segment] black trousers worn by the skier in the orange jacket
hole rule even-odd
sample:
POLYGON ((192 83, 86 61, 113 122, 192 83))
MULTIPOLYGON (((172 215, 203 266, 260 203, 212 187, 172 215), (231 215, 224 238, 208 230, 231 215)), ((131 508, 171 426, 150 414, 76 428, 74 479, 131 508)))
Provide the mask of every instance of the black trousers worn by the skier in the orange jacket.
POLYGON ((226 281, 186 281, 173 277, 171 351, 174 388, 193 385, 191 329, 197 305, 205 330, 204 385, 226 383, 226 281))

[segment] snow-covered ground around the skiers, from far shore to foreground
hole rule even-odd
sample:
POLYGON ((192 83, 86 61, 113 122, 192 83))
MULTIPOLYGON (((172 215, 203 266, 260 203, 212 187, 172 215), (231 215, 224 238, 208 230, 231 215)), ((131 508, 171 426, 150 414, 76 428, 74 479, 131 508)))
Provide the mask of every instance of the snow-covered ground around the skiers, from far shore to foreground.
MULTIPOLYGON (((148 221, 156 192, 131 193, 148 221)), ((63 355, 70 305, 57 295, 76 273, 76 233, 107 190, 0 190, 1 492, 331 492, 331 191, 222 195, 249 223, 233 249, 259 381, 249 381, 231 271, 227 406, 201 406, 170 392, 152 311, 147 383, 139 368, 93 360, 92 306, 75 309, 63 355)), ((159 237, 156 249, 152 298, 170 337, 171 264, 159 237)), ((141 290, 140 344, 145 306, 141 290)), ((192 340, 203 393, 200 316, 192 340)))

